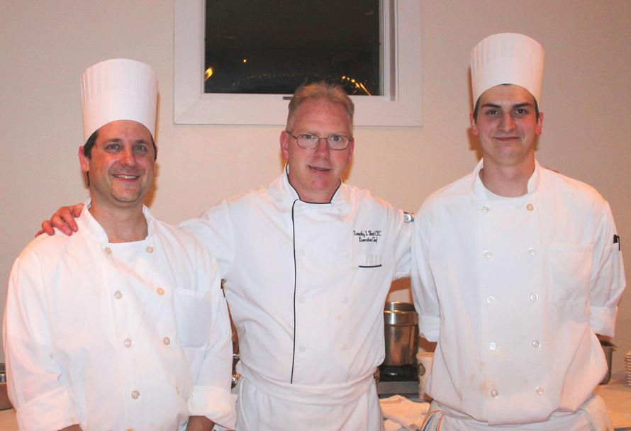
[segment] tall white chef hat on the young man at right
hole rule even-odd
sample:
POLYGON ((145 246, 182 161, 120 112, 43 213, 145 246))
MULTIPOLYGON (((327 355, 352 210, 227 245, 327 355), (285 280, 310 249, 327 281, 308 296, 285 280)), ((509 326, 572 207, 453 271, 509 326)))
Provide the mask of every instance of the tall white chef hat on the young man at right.
POLYGON ((518 33, 498 33, 481 40, 471 51, 471 91, 474 104, 484 91, 500 84, 523 86, 541 103, 543 47, 518 33))

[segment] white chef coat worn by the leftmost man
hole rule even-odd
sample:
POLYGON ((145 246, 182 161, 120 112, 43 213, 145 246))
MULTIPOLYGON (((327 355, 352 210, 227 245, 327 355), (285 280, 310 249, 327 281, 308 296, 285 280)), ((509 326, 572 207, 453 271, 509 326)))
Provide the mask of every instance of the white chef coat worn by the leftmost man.
POLYGON ((110 243, 87 208, 72 237, 43 235, 11 272, 4 316, 9 397, 21 430, 228 427, 232 347, 216 261, 155 220, 110 243))

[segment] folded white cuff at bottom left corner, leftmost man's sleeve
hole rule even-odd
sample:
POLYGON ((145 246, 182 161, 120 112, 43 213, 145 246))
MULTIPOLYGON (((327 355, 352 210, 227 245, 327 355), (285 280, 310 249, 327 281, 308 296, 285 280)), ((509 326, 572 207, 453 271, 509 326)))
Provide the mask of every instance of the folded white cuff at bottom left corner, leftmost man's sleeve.
POLYGON ((74 404, 65 387, 56 388, 21 405, 16 410, 16 420, 22 431, 61 430, 79 424, 74 404))

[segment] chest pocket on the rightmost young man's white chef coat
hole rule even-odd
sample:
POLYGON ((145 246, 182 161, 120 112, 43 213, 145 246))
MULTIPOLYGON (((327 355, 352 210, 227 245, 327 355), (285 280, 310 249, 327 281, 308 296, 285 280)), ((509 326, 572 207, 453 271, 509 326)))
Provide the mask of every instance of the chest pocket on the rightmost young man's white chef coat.
POLYGON ((549 298, 586 302, 593 245, 551 244, 548 247, 549 298))

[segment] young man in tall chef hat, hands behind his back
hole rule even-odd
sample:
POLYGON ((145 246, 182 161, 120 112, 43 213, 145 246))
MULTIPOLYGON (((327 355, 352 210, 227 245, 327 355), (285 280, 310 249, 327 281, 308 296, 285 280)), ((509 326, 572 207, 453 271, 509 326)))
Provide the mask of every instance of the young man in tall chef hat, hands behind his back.
POLYGON ((441 430, 610 430, 593 390, 625 287, 608 203, 535 159, 544 53, 519 34, 471 53, 482 159, 432 194, 413 234, 427 392, 441 430))

